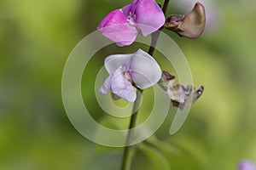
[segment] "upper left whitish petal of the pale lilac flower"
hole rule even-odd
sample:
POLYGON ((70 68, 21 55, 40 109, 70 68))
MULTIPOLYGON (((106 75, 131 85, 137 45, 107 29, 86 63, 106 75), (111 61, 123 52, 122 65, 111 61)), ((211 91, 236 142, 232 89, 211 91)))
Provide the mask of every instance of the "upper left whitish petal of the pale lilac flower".
POLYGON ((113 74, 121 65, 128 64, 130 65, 130 59, 134 54, 114 54, 109 55, 105 61, 104 65, 108 74, 113 74))

